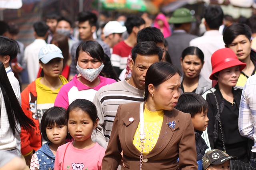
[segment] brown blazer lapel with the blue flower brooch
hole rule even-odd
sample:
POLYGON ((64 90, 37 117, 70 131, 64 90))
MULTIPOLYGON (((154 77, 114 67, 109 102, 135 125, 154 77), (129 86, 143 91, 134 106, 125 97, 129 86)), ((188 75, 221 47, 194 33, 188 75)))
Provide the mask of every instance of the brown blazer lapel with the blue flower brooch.
POLYGON ((152 157, 157 155, 158 153, 162 152, 168 143, 171 141, 172 136, 174 135, 175 131, 179 129, 179 119, 175 119, 172 111, 164 110, 164 119, 161 127, 161 131, 159 134, 159 138, 156 142, 155 147, 149 152, 146 157, 152 157), (170 126, 167 124, 169 123, 170 126), (175 125, 174 125, 175 124, 175 125), (173 125, 173 126, 171 126, 173 125), (174 127, 174 128, 173 128, 174 127))

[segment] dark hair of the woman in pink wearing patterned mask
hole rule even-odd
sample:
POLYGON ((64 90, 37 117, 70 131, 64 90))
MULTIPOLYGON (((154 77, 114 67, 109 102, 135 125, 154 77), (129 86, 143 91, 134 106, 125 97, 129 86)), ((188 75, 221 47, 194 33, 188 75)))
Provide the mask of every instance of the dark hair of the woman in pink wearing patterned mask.
POLYGON ((92 58, 98 59, 102 63, 105 63, 104 51, 97 41, 90 40, 80 43, 76 49, 76 61, 78 61, 78 57, 81 51, 84 51, 92 58))

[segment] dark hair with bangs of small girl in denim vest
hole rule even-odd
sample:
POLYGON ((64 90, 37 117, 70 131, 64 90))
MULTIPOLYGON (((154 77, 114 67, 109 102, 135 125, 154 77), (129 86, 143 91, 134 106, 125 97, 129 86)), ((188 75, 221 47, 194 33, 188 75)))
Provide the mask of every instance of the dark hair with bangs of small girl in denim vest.
MULTIPOLYGON (((44 112, 41 120, 41 133, 44 140, 50 142, 46 134, 46 128, 55 126, 55 125, 64 125, 67 126, 68 122, 66 119, 66 109, 63 107, 54 106, 47 109, 44 112)), ((66 139, 70 139, 70 136, 67 134, 66 139)))

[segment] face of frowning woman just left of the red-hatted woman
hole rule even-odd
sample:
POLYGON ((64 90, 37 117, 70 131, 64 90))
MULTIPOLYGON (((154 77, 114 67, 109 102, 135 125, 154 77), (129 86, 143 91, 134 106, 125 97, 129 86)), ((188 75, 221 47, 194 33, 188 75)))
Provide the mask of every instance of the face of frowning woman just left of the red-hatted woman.
POLYGON ((180 59, 182 66, 182 71, 184 76, 187 78, 196 78, 199 76, 201 69, 203 68, 203 63, 196 55, 186 55, 182 61, 180 59))

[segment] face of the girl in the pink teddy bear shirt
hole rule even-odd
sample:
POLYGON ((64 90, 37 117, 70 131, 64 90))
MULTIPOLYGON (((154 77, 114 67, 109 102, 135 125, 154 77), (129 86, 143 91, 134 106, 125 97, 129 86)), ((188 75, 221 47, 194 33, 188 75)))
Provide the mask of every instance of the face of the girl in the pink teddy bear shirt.
POLYGON ((90 116, 81 109, 72 110, 69 113, 68 130, 75 141, 90 141, 92 131, 97 125, 98 119, 93 123, 90 116))

